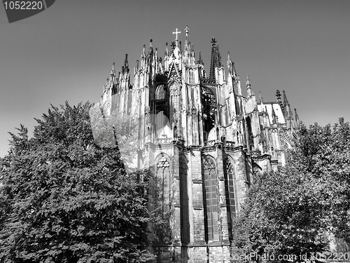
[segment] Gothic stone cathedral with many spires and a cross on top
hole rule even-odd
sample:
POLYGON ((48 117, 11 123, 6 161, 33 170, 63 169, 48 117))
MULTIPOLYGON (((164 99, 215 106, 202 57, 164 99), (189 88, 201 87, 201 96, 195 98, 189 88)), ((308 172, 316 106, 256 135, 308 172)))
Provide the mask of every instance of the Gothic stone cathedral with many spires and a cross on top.
POLYGON ((113 63, 101 102, 136 123, 133 163, 151 171, 148 206, 165 222, 150 225, 155 262, 230 262, 232 220, 254 174, 288 161, 299 120, 284 91, 267 101, 248 76, 242 85, 214 37, 206 72, 188 27, 183 44, 179 33, 164 57, 144 45, 133 81, 127 55, 118 74, 113 63))

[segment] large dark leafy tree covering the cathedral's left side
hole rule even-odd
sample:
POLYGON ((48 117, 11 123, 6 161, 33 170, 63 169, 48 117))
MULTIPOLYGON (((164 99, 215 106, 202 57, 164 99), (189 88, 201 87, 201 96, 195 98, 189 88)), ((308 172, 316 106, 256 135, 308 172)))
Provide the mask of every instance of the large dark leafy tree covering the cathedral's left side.
POLYGON ((142 180, 147 174, 127 174, 118 147, 94 143, 92 106, 52 106, 36 119, 31 139, 24 126, 18 135, 10 133, 10 151, 1 160, 3 262, 144 262, 151 257, 142 180))

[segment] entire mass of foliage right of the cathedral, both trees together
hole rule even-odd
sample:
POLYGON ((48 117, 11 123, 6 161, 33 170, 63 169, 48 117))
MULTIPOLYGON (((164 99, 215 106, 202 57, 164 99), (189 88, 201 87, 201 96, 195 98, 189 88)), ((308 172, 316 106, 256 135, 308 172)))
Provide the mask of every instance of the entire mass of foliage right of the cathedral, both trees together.
POLYGON ((302 124, 290 162, 256 175, 248 190, 235 222, 235 253, 301 260, 328 250, 330 233, 349 243, 349 142, 342 119, 332 128, 302 124))

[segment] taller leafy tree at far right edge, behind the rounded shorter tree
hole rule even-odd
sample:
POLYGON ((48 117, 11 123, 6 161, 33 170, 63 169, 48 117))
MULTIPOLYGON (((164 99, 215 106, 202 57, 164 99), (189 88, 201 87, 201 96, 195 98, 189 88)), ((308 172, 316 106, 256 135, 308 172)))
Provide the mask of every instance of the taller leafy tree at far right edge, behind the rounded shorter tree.
POLYGON ((339 123, 321 127, 315 123, 300 129, 295 161, 320 182, 318 195, 332 234, 350 243, 350 126, 339 123))

